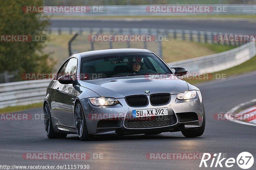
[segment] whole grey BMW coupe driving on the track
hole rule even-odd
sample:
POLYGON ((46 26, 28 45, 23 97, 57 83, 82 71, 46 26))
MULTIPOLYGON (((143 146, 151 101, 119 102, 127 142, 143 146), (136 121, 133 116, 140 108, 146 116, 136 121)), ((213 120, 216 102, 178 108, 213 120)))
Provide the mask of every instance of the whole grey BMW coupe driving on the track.
POLYGON ((77 134, 155 135, 204 133, 200 90, 180 79, 187 69, 170 68, 147 49, 106 49, 70 56, 47 87, 47 137, 77 134))

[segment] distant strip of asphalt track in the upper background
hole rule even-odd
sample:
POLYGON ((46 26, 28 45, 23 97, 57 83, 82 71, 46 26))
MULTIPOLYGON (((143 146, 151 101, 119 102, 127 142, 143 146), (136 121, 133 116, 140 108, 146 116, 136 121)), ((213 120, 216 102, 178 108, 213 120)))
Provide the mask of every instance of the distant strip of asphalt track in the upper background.
MULTIPOLYGON (((136 18, 135 18, 136 19, 136 18)), ((218 33, 255 34, 256 20, 212 20, 212 19, 142 19, 142 20, 81 20, 52 19, 51 27, 88 27, 88 28, 162 28, 218 33)))

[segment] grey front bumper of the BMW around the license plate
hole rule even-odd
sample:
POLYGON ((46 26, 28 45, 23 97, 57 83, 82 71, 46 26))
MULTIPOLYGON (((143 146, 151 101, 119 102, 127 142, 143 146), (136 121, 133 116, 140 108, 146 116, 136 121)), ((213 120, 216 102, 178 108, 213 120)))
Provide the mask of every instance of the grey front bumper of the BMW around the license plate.
MULTIPOLYGON (((149 95, 147 96, 149 100, 149 95)), ((202 126, 205 116, 202 96, 197 91, 197 97, 192 100, 176 100, 177 94, 171 95, 171 100, 165 105, 152 106, 150 102, 144 107, 130 107, 124 98, 117 99, 120 103, 114 106, 93 106, 88 98, 80 100, 84 108, 86 124, 89 134, 92 135, 128 135, 143 134, 147 132, 175 132, 188 128, 202 126), (132 118, 132 110, 168 108, 168 116, 172 117, 169 124, 158 124, 156 127, 127 127, 128 120, 132 118)), ((150 117, 143 117, 142 121, 148 121, 150 117), (144 119, 143 119, 144 118, 144 119)), ((160 117, 154 116, 156 122, 160 117)), ((162 117, 164 120, 164 117, 162 117)))

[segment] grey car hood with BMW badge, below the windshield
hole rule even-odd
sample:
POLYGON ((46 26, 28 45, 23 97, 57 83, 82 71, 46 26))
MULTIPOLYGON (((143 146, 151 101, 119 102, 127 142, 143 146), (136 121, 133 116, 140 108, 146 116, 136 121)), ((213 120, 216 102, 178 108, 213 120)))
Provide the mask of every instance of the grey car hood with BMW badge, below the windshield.
POLYGON ((79 85, 91 89, 102 97, 114 98, 153 93, 177 94, 188 90, 188 84, 174 75, 103 78, 79 81, 79 85), (145 93, 145 90, 149 93, 145 93))

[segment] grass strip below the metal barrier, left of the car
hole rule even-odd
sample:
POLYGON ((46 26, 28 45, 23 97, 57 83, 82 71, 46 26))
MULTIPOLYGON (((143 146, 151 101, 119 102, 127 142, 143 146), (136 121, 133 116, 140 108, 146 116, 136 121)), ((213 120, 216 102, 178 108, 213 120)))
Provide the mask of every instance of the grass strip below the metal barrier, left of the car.
POLYGON ((40 108, 43 107, 43 103, 34 103, 30 105, 24 106, 8 106, 0 109, 0 114, 2 113, 10 113, 10 112, 18 112, 22 110, 32 109, 32 108, 40 108))

